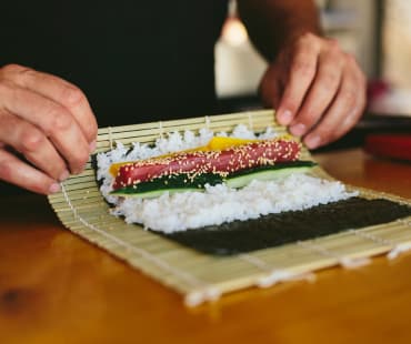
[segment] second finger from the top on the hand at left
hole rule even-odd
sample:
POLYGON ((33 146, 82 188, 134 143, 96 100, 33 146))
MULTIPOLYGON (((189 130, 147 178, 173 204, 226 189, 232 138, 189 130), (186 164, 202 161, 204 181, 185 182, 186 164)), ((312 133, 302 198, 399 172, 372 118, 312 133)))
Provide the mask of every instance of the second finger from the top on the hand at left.
POLYGON ((8 112, 38 127, 51 140, 72 173, 83 170, 90 143, 64 107, 7 82, 0 84, 0 99, 8 112))

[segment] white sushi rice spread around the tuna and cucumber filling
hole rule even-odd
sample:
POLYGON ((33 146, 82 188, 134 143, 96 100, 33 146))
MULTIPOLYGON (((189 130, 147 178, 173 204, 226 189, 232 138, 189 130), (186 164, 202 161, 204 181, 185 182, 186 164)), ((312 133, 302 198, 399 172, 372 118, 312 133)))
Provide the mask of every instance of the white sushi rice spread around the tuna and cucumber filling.
MULTIPOLYGON (((302 173, 282 176, 275 181, 253 181, 239 190, 220 184, 207 185, 204 192, 164 193, 157 199, 109 195, 113 179, 108 169, 113 162, 147 159, 204 145, 212 135, 209 130, 202 130, 199 135, 190 131, 183 135, 172 133, 166 139, 157 140, 154 148, 136 143, 133 151, 127 156, 128 150, 120 143, 111 152, 99 154, 98 179, 103 179, 102 194, 110 203, 116 204, 112 214, 124 216, 128 223, 140 223, 146 229, 172 233, 234 220, 257 219, 270 213, 304 210, 357 195, 354 192, 348 192, 340 182, 325 181, 302 173)), ((259 138, 268 139, 274 135, 272 129, 268 129, 259 138)), ((244 125, 239 125, 230 136, 255 139, 254 133, 244 125)))

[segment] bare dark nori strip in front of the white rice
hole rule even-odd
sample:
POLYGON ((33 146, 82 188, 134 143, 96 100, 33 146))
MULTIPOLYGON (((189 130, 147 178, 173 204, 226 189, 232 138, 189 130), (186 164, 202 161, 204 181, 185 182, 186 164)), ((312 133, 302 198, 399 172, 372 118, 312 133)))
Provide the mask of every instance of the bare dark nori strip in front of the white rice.
POLYGON ((409 215, 411 206, 404 204, 383 199, 351 198, 255 220, 233 221, 171 234, 153 233, 203 253, 233 255, 382 224, 409 215))

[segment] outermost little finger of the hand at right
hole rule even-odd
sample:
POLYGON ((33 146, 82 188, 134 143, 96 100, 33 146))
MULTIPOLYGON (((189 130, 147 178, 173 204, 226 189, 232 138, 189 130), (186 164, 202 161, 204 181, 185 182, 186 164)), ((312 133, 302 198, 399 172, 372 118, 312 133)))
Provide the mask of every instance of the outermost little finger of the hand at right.
POLYGON ((315 149, 329 143, 349 131, 361 117, 365 105, 364 81, 355 73, 345 73, 341 88, 323 119, 304 138, 309 149, 315 149))

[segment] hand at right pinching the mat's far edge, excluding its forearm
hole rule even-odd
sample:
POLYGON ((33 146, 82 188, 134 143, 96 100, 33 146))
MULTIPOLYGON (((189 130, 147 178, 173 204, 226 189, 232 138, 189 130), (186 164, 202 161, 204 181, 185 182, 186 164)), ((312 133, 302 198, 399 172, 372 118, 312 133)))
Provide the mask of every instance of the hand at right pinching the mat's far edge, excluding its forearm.
POLYGON ((360 119, 365 77, 334 40, 304 33, 285 45, 260 84, 277 120, 309 149, 337 140, 360 119))

